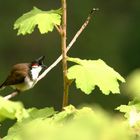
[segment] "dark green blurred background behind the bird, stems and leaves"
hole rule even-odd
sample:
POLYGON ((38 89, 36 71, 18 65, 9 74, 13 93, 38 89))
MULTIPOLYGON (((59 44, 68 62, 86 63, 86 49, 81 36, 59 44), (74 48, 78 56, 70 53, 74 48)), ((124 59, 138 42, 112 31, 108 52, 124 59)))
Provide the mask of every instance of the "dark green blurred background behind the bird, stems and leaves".
MULTIPOLYGON (((89 11, 95 7, 98 11, 88 27, 80 35, 69 56, 82 59, 103 59, 123 77, 140 67, 140 1, 139 0, 73 0, 68 4, 67 43, 85 21, 89 11)), ((17 36, 13 30, 15 20, 33 6, 42 10, 57 9, 59 0, 4 0, 0 3, 0 83, 6 78, 11 66, 19 62, 30 62, 45 55, 45 64, 50 65, 61 54, 60 36, 56 30, 41 35, 36 29, 31 35, 17 36)), ((56 110, 62 105, 62 68, 57 65, 33 89, 12 100, 21 101, 28 107, 51 107, 56 110)), ((1 95, 12 92, 10 88, 0 91, 1 95)), ((113 111, 120 104, 127 104, 129 96, 122 90, 121 95, 105 96, 96 88, 93 94, 85 95, 72 84, 69 103, 99 104, 113 111)), ((6 133, 9 122, 5 121, 0 135, 6 133)))

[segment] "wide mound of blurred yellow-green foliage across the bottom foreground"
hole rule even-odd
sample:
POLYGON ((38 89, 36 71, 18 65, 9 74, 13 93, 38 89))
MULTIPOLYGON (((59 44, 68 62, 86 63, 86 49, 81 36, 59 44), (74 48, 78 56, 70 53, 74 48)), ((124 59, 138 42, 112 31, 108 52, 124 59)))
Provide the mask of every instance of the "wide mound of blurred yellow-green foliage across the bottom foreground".
POLYGON ((70 105, 52 117, 29 117, 17 122, 3 140, 45 140, 46 138, 47 140, 132 140, 133 135, 127 124, 120 119, 117 121, 112 119, 101 109, 92 110, 88 107, 75 109, 70 105))

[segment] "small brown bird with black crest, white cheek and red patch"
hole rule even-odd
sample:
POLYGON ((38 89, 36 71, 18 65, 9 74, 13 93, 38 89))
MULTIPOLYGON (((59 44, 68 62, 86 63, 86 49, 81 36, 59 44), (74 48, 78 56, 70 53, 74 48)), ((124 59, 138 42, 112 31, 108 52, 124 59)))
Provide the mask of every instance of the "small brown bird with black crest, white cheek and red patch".
POLYGON ((0 85, 0 89, 10 86, 21 92, 34 87, 41 70, 47 68, 43 64, 44 58, 45 56, 41 56, 31 63, 15 64, 6 80, 0 85))

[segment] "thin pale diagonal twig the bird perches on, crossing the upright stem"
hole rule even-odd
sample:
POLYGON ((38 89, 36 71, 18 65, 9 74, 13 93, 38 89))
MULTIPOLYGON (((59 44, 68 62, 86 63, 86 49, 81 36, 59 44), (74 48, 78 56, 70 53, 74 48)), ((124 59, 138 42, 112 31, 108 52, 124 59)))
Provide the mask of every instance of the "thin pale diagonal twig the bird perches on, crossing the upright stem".
MULTIPOLYGON (((79 37, 79 35, 83 32, 83 30, 86 28, 86 26, 88 25, 91 16, 93 15, 94 11, 98 11, 99 9, 95 9, 93 8, 90 12, 90 14, 88 15, 87 19, 85 20, 85 22, 83 23, 83 25, 81 26, 81 28, 77 31, 77 33, 75 34, 75 36, 73 37, 73 39, 71 40, 71 42, 69 43, 69 45, 67 46, 67 52, 70 50, 70 48, 73 46, 73 44, 76 42, 77 38, 79 37)), ((49 73, 60 61, 62 60, 62 55, 60 55, 36 80, 36 82, 34 83, 34 85, 40 81, 42 78, 44 78, 46 76, 47 73, 49 73)), ((15 92, 5 96, 5 99, 11 99, 12 97, 16 96, 17 94, 14 94, 15 92)))

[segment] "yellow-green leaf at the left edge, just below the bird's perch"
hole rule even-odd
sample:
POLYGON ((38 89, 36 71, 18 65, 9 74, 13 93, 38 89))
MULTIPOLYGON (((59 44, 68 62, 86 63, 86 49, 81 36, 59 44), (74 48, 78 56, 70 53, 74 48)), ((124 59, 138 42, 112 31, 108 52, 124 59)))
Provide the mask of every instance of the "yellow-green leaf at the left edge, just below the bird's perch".
POLYGON ((3 121, 6 118, 21 121, 28 116, 28 112, 21 102, 13 102, 0 97, 0 121, 3 121))

